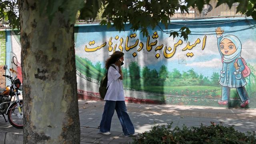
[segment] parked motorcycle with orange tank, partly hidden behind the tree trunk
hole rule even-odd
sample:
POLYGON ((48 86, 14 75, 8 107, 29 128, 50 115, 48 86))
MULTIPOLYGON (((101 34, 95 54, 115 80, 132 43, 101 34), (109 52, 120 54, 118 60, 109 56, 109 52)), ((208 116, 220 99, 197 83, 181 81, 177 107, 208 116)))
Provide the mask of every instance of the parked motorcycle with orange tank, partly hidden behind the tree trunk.
MULTIPOLYGON (((8 66, 4 65, 4 70, 6 69, 8 70, 8 66)), ((15 128, 23 128, 23 101, 19 99, 18 92, 22 90, 22 84, 17 76, 12 77, 11 73, 3 76, 11 81, 11 85, 0 90, 0 115, 4 117, 5 122, 9 121, 15 128), (8 116, 8 121, 4 114, 8 116)))

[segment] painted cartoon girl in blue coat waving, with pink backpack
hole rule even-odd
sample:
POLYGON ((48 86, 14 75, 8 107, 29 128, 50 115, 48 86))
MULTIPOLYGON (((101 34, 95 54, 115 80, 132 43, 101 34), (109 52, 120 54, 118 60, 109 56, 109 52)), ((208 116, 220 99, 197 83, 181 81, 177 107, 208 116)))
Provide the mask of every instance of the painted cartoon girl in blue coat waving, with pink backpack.
POLYGON ((240 56, 242 44, 236 36, 227 35, 222 37, 224 30, 221 30, 220 27, 215 29, 215 32, 217 34, 218 49, 223 62, 219 82, 222 85, 222 97, 218 101, 218 104, 228 104, 230 88, 236 88, 242 101, 240 106, 244 108, 250 103, 250 100, 244 87, 247 83, 242 75, 242 71, 244 70, 244 63, 240 56))

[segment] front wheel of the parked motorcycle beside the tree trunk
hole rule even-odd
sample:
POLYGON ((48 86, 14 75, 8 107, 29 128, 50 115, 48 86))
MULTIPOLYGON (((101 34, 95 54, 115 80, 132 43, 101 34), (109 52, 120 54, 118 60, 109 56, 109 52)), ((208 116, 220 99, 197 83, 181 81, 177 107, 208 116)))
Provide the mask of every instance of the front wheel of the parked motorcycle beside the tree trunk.
MULTIPOLYGON (((20 107, 21 107, 22 115, 23 115, 22 100, 20 100, 20 107)), ((15 102, 10 106, 10 108, 7 112, 8 120, 9 120, 10 124, 12 126, 14 126, 15 128, 23 128, 23 116, 22 116, 22 118, 19 118, 18 112, 19 112, 19 109, 18 109, 17 103, 15 102)))

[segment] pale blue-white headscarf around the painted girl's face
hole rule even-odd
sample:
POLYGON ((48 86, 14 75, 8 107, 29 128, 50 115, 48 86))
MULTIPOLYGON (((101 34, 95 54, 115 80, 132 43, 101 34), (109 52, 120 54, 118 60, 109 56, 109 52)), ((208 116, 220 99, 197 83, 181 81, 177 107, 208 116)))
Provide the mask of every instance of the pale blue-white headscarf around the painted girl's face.
POLYGON ((227 35, 227 36, 222 37, 220 42, 222 40, 224 40, 225 38, 234 43, 234 45, 236 46, 236 52, 234 52, 233 54, 230 54, 228 56, 224 55, 223 61, 231 62, 232 60, 235 60, 236 58, 240 58, 241 51, 242 51, 242 44, 241 44, 240 40, 234 35, 227 35))

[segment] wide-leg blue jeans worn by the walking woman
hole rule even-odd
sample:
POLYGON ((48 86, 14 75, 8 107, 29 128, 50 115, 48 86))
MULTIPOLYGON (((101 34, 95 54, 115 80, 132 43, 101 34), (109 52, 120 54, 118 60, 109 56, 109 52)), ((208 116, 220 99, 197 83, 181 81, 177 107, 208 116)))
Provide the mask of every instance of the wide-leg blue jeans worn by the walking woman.
POLYGON ((126 105, 124 101, 106 100, 102 120, 100 122, 100 132, 109 132, 111 127, 111 120, 116 110, 118 119, 121 122, 124 135, 128 136, 134 134, 134 126, 127 114, 126 105))

